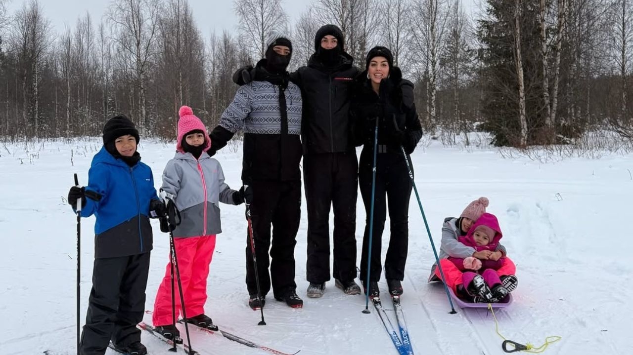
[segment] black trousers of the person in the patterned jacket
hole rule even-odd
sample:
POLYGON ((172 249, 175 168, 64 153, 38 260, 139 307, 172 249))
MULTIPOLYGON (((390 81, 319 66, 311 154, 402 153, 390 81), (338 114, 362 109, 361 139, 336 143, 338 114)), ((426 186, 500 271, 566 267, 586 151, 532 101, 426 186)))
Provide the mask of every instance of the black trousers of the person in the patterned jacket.
MULTIPOLYGON (((261 296, 265 296, 270 291, 272 284, 273 295, 280 298, 290 291, 296 291, 297 288, 294 282, 294 246, 297 244, 296 237, 301 219, 301 181, 254 180, 251 186, 253 188, 251 223, 261 296), (270 274, 268 274, 269 266, 270 274)), ((249 294, 257 293, 253 253, 248 234, 246 287, 249 294)))

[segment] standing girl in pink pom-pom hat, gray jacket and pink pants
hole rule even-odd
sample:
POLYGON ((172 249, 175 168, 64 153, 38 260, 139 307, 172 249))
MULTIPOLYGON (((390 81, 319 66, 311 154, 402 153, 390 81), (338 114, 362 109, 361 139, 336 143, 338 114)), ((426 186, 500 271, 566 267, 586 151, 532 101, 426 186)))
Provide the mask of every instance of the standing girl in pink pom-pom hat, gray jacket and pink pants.
MULTIPOLYGON (((187 322, 217 330, 211 318, 204 314, 204 303, 215 236, 222 232, 218 202, 239 205, 244 202, 244 196, 224 183, 220 162, 206 153, 211 147, 211 138, 200 119, 187 106, 180 107, 179 115, 176 155, 163 171, 161 191, 170 195, 180 212, 181 222, 172 233, 187 322)), ((171 287, 168 263, 154 301, 153 324, 163 337, 178 340, 179 331, 172 323, 171 287)), ((179 313, 182 315, 182 306, 177 283, 175 287, 178 318, 179 313)))

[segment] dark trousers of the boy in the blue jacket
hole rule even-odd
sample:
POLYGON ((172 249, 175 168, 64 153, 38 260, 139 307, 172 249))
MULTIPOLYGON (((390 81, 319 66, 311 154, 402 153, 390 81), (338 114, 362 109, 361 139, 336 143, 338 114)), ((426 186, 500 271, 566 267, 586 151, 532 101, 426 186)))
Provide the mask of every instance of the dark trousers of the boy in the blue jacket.
POLYGON ((80 354, 103 355, 110 340, 118 346, 141 341, 136 325, 145 313, 148 270, 149 252, 94 260, 80 354))

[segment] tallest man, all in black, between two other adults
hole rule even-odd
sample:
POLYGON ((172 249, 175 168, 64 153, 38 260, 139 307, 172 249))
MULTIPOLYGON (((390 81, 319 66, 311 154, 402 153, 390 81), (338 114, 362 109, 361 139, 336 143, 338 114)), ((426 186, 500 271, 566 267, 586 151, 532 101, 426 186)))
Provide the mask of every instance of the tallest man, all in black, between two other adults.
MULTIPOLYGON (((358 159, 349 124, 351 83, 360 71, 344 50, 341 29, 325 25, 316 32, 315 53, 308 66, 291 73, 301 88, 303 177, 308 203, 308 297, 323 296, 330 280, 330 205, 334 208, 334 270, 336 286, 359 294, 356 278, 356 198, 358 159)), ((238 84, 248 69, 234 75, 238 84)), ((246 79, 246 80, 245 80, 246 79)))

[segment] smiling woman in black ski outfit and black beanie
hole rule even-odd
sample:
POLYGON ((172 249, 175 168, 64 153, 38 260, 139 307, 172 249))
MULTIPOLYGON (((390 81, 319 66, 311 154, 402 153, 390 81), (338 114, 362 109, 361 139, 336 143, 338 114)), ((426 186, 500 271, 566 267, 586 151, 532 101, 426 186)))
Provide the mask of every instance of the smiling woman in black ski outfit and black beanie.
POLYGON ((367 212, 360 275, 366 293, 374 135, 378 126, 370 296, 379 296, 380 247, 387 208, 391 236, 385 258, 385 278, 392 295, 403 292, 401 281, 408 250, 409 198, 413 184, 401 147, 413 169, 409 154, 422 138, 422 126, 413 102, 413 83, 402 78, 392 58, 391 51, 385 47, 374 47, 368 53, 365 71, 355 80, 352 100, 354 138, 357 146, 363 145, 358 181, 367 212))

